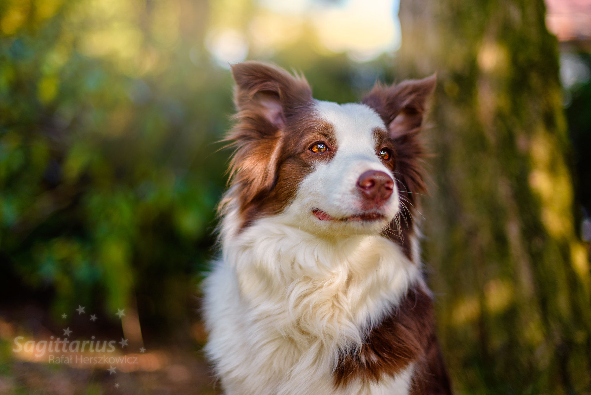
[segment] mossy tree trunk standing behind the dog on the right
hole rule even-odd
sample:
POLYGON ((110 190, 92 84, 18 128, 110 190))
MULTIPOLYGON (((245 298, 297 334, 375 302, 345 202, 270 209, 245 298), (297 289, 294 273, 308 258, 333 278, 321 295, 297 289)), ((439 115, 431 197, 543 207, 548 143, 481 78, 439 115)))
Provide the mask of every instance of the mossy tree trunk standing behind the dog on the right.
POLYGON ((401 0, 401 77, 437 72, 424 259, 460 393, 591 389, 556 38, 543 0, 401 0))

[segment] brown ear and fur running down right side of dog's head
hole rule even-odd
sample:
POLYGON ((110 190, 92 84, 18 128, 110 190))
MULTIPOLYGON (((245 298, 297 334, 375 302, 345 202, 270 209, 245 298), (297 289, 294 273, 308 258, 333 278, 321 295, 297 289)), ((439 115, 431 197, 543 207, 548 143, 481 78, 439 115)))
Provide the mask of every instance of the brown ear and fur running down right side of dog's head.
POLYGON ((373 108, 388 126, 396 149, 396 171, 402 209, 386 230, 411 257, 409 236, 414 232, 413 216, 417 194, 426 192, 422 160, 424 148, 418 138, 427 102, 436 85, 436 76, 407 80, 398 85, 376 83, 362 103, 373 108))

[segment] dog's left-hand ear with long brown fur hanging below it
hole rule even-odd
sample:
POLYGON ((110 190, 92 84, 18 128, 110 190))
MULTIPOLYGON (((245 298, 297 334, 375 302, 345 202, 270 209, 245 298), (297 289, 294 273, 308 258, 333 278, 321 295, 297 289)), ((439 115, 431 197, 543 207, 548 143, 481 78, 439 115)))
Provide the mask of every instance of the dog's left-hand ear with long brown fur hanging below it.
POLYGON ((230 164, 232 184, 241 185, 241 211, 269 192, 277 177, 285 124, 310 103, 306 79, 271 64, 245 61, 232 66, 236 82, 236 125, 225 141, 236 147, 230 164))

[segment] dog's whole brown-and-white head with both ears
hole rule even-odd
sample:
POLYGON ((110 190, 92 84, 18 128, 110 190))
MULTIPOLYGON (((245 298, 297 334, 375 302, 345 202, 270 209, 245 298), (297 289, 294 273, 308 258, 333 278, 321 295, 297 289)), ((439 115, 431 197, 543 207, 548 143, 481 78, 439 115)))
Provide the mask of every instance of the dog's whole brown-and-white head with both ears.
POLYGON ((239 63, 232 74, 229 199, 242 229, 278 215, 315 234, 396 237, 410 226, 424 192, 417 132, 434 76, 376 84, 362 103, 339 105, 314 100, 303 77, 269 64, 239 63))

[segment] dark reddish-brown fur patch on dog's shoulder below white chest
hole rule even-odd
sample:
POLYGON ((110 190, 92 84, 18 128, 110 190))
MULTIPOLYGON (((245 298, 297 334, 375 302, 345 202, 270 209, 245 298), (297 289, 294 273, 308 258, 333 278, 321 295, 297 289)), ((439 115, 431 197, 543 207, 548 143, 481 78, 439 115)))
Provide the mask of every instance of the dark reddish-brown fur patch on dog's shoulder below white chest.
POLYGON ((451 393, 435 335, 433 302, 420 287, 409 289, 400 305, 369 330, 361 348, 339 354, 335 385, 377 382, 394 377, 411 363, 415 364, 411 393, 451 393))

